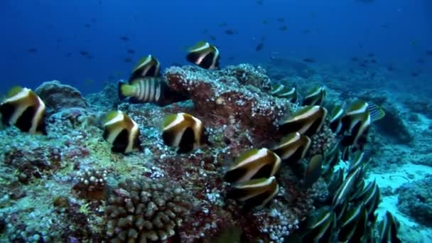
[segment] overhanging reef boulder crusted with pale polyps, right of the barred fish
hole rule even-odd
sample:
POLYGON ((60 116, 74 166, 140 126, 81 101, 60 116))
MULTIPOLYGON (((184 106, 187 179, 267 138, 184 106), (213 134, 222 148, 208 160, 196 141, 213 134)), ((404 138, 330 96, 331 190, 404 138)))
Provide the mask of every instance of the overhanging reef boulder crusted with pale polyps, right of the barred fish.
POLYGON ((263 92, 269 88, 269 77, 251 65, 220 71, 172 67, 165 76, 171 89, 187 93, 195 108, 211 120, 226 124, 227 119, 235 119, 260 134, 274 130, 291 105, 263 92))

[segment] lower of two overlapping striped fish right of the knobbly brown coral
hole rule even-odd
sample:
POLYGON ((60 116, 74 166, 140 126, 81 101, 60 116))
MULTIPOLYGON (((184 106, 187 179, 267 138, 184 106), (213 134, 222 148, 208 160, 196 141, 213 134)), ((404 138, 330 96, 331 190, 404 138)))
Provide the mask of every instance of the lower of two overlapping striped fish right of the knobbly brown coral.
POLYGON ((279 192, 274 176, 235 183, 228 191, 227 198, 244 202, 245 207, 261 209, 279 192))

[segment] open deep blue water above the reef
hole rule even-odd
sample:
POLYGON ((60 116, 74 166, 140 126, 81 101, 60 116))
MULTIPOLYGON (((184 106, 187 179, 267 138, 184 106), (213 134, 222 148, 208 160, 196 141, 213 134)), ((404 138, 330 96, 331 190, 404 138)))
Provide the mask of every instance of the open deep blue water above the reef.
POLYGON ((271 55, 347 63, 374 53, 383 66, 400 67, 407 79, 412 70, 421 70, 420 80, 432 70, 432 56, 426 56, 432 50, 430 0, 1 0, 0 13, 2 91, 55 79, 95 92, 104 82, 127 78, 149 53, 162 68, 186 64, 185 47, 200 40, 220 48, 222 67, 265 63, 271 55), (280 31, 284 24, 288 30, 280 31), (227 29, 238 33, 227 35, 227 29), (264 48, 257 52, 261 36, 264 48))

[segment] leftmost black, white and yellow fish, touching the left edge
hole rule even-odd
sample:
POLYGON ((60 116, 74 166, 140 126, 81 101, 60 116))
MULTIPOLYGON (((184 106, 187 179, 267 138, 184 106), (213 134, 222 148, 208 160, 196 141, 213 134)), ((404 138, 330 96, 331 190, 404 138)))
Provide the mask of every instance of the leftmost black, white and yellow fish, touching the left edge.
POLYGON ((46 135, 45 104, 26 87, 13 87, 0 104, 1 120, 30 134, 46 135))

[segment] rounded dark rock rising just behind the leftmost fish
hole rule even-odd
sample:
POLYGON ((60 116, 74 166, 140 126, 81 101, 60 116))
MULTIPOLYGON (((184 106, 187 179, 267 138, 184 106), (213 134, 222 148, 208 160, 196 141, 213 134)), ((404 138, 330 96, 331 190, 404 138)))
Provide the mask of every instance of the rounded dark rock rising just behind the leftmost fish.
POLYGON ((58 80, 43 82, 41 86, 36 88, 36 93, 45 102, 46 107, 53 109, 55 112, 70 107, 87 107, 87 103, 80 91, 75 87, 63 85, 58 80))

